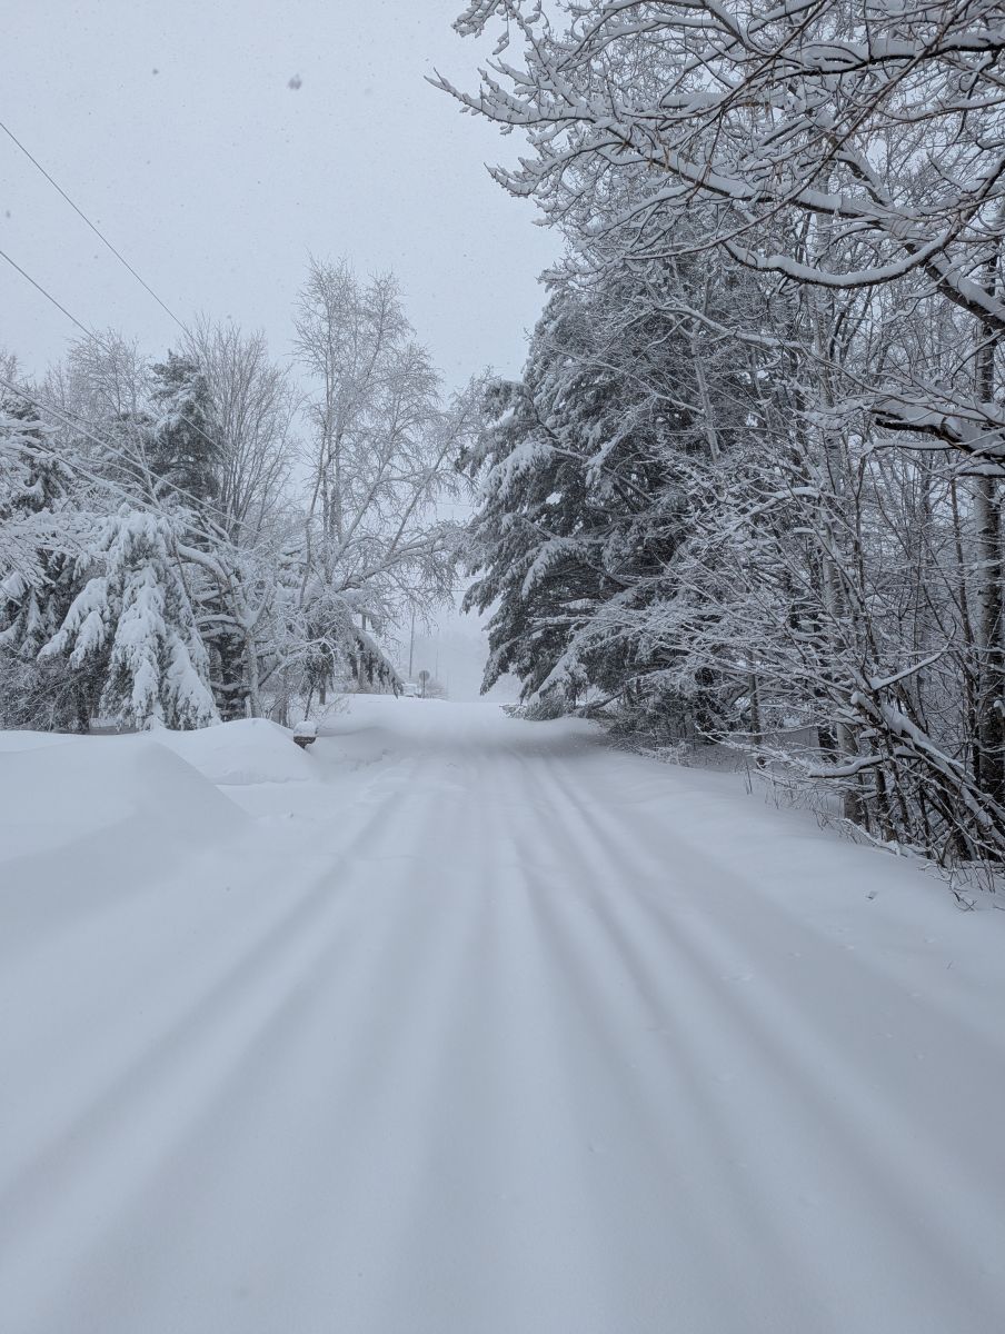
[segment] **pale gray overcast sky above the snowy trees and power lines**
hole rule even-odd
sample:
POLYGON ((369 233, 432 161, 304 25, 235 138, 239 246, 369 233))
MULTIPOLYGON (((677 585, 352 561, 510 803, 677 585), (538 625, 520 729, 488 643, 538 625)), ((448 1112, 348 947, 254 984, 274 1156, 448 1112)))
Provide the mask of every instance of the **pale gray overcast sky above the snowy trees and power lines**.
MULTIPOLYGON (((463 0, 8 0, 0 120, 164 301, 286 354, 308 251, 392 268, 450 384, 518 370, 557 241, 484 171, 513 140, 438 93, 474 83, 463 0), (300 87, 291 89, 291 79, 300 87)), ((0 133, 0 248, 89 327, 176 329, 0 133)), ((0 261, 29 372, 73 327, 0 261)))

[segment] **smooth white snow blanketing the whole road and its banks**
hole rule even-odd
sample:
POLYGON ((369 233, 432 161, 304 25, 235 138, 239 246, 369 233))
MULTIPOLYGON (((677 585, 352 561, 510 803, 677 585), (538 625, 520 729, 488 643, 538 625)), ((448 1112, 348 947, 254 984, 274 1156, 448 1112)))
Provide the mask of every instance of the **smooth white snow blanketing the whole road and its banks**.
POLYGON ((1005 912, 587 724, 0 739, 4 1334, 997 1334, 1005 912))

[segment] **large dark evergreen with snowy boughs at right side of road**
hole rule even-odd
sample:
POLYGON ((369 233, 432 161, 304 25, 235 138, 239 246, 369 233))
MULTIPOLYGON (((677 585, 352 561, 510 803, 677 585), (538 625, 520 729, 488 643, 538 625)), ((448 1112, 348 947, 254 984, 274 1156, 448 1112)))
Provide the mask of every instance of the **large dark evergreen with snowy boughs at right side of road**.
POLYGON ((687 682, 687 646, 654 632, 657 608, 689 596, 677 564, 691 475, 725 466, 749 390, 707 347, 698 368, 701 336, 673 309, 682 283, 559 285, 523 380, 487 396, 466 460, 482 484, 468 604, 495 606, 486 686, 510 671, 527 696, 593 684, 637 699, 659 688, 666 704, 677 674, 682 707, 711 711, 706 726, 721 707, 707 670, 687 682))

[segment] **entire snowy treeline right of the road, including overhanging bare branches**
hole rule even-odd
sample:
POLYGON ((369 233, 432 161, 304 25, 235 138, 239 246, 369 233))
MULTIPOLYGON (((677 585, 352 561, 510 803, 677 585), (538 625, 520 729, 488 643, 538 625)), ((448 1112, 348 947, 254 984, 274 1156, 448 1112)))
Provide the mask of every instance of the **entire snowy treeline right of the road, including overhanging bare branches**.
POLYGON ((1005 16, 472 4, 566 240, 466 454, 487 680, 1005 851, 1005 16))

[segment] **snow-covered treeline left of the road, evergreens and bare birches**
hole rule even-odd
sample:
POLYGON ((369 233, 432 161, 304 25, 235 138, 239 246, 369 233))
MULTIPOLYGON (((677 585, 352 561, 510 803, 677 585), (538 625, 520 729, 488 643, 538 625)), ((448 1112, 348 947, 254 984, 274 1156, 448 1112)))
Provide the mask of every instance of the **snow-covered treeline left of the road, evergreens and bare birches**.
POLYGON ((391 277, 311 263, 295 355, 198 324, 0 363, 0 727, 200 727, 399 690, 452 587, 467 430, 391 277))

